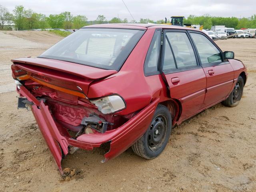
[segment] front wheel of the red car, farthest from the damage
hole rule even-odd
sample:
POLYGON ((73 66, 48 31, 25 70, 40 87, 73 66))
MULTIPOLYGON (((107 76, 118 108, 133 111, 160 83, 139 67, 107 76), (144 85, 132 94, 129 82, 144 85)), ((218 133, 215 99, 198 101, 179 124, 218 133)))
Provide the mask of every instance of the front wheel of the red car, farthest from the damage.
POLYGON ((242 98, 243 90, 244 90, 244 79, 241 76, 239 76, 236 81, 236 85, 234 89, 232 90, 228 98, 222 101, 222 104, 228 107, 237 106, 242 98))

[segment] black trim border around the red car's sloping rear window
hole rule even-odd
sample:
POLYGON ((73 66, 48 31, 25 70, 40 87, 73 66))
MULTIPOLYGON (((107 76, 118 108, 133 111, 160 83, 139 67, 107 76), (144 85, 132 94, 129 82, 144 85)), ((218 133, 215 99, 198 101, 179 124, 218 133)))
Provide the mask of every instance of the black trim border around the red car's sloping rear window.
POLYGON ((127 29, 127 30, 141 30, 141 31, 144 31, 140 38, 138 38, 138 40, 136 41, 136 43, 134 44, 134 47, 132 48, 132 50, 130 51, 130 53, 126 56, 126 58, 124 59, 124 61, 122 62, 122 64, 120 64, 119 68, 117 69, 110 69, 110 68, 105 68, 105 67, 99 67, 99 66, 95 66, 94 65, 90 65, 90 64, 84 64, 84 63, 81 63, 81 62, 77 62, 75 61, 74 59, 73 60, 68 60, 68 59, 63 59, 61 57, 52 57, 52 56, 48 56, 48 57, 45 57, 45 56, 37 56, 37 58, 46 58, 46 59, 54 59, 54 60, 60 60, 60 61, 66 61, 66 62, 71 62, 71 63, 76 63, 76 64, 81 64, 81 65, 85 65, 85 66, 90 66, 90 67, 95 67, 95 68, 99 68, 99 69, 104 69, 104 70, 116 70, 116 71, 120 71, 122 66, 124 65, 124 63, 126 62, 126 60, 128 59, 128 57, 130 56, 130 54, 132 53, 132 51, 134 50, 134 48, 137 46, 138 42, 140 42, 140 39, 144 36, 145 32, 147 29, 136 29, 136 28, 112 28, 112 27, 84 27, 84 28, 81 28, 81 29, 127 29))

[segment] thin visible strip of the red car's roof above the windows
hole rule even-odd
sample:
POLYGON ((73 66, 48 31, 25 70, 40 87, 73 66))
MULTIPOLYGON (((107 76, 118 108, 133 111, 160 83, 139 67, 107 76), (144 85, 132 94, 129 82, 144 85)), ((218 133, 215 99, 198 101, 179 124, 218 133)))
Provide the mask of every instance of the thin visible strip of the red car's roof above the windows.
POLYGON ((82 28, 129 28, 129 29, 148 29, 148 28, 166 28, 166 29, 183 29, 183 30, 196 30, 201 31, 195 28, 188 28, 183 26, 175 26, 168 24, 141 24, 141 23, 113 23, 113 24, 96 24, 84 26, 82 28))

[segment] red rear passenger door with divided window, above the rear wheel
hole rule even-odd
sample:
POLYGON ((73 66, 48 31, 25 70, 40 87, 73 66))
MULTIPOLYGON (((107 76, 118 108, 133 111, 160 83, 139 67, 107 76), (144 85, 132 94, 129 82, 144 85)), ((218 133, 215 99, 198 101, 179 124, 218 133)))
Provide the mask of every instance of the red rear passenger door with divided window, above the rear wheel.
POLYGON ((164 31, 161 58, 170 96, 182 105, 182 121, 200 110, 206 92, 206 75, 186 30, 164 31))

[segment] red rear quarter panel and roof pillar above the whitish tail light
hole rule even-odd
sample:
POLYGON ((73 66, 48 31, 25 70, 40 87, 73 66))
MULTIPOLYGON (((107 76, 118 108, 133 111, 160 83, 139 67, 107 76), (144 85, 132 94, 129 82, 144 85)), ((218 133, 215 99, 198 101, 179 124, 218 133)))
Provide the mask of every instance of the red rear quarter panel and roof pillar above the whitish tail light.
MULTIPOLYGON (((119 94, 126 102, 126 109, 118 112, 120 115, 130 114, 148 106, 153 94, 144 76, 143 66, 154 31, 151 29, 145 32, 118 73, 90 85, 88 98, 119 94)), ((160 88, 162 89, 162 86, 160 88)))

